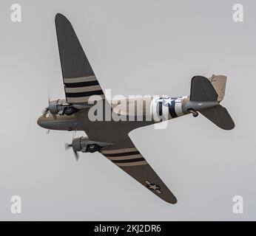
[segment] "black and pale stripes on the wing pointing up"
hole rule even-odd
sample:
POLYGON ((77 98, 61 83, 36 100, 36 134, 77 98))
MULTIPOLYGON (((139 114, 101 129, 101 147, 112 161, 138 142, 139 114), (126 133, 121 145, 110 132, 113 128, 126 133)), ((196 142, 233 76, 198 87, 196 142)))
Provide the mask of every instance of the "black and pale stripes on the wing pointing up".
POLYGON ((104 99, 104 93, 95 75, 77 78, 64 78, 67 103, 87 103, 92 95, 104 99))

